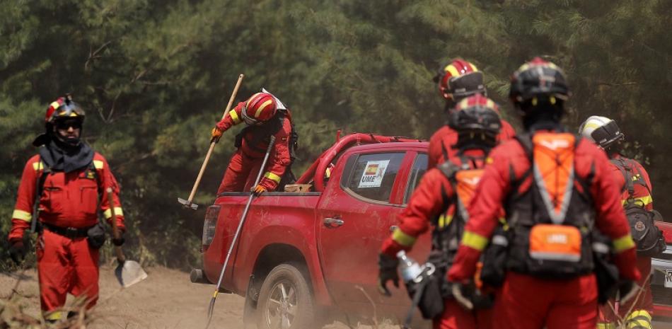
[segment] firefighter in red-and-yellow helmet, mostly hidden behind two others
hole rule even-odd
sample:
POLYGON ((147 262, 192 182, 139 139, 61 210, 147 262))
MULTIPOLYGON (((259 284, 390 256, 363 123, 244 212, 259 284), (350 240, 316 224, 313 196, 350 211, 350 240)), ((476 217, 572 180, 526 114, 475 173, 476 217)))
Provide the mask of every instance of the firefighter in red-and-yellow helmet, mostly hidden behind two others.
MULTIPOLYGON (((453 106, 466 97, 481 94, 486 96, 483 74, 476 66, 464 59, 453 59, 442 65, 434 76, 434 82, 439 84, 439 93, 446 100, 445 112, 450 113, 453 106)), ((502 129, 497 135, 499 142, 511 139, 516 135, 514 127, 502 120, 502 129)), ((453 145, 458 141, 457 132, 449 125, 444 125, 429 138, 429 160, 427 168, 434 168, 444 163, 448 158, 455 156, 457 149, 453 145)))

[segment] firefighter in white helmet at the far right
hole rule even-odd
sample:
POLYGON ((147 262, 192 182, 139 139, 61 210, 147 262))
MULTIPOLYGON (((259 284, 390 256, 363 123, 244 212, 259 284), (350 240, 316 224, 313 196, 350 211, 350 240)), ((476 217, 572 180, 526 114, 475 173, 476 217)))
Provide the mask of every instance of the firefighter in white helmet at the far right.
MULTIPOLYGON (((618 181, 618 186, 621 186, 622 203, 625 204, 632 197, 638 202, 642 202, 644 209, 653 210, 649 173, 636 160, 620 154, 621 143, 625 140, 625 135, 620 131, 616 122, 608 117, 593 115, 581 124, 579 134, 597 143, 601 149, 606 151, 613 167, 612 174, 618 181), (632 195, 627 190, 626 175, 630 175, 632 179, 632 195)), ((650 279, 651 257, 637 255, 637 269, 642 274, 637 282, 639 287, 642 287, 642 292, 630 302, 620 304, 618 306, 618 316, 612 311, 613 303, 601 306, 598 329, 615 328, 619 318, 625 319, 628 329, 651 329, 651 312, 654 308, 650 279), (630 310, 632 312, 628 313, 630 310)))

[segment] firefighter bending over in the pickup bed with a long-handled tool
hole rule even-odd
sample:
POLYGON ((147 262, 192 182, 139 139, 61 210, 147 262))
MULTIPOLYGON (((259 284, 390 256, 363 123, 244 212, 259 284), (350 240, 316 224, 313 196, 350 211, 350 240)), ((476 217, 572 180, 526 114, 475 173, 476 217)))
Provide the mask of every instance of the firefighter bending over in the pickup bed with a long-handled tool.
MULTIPOLYGON (((245 122, 243 131, 236 136, 236 153, 226 168, 221 180, 221 192, 241 192, 254 189, 260 195, 265 191, 274 191, 281 184, 284 175, 291 175, 291 114, 282 102, 266 91, 238 103, 230 110, 224 120, 212 129, 212 139, 219 141, 221 134, 234 125, 245 122), (259 182, 255 183, 257 173, 266 154, 270 137, 275 136, 266 171, 259 182)), ((283 181, 284 183, 284 181, 283 181)))

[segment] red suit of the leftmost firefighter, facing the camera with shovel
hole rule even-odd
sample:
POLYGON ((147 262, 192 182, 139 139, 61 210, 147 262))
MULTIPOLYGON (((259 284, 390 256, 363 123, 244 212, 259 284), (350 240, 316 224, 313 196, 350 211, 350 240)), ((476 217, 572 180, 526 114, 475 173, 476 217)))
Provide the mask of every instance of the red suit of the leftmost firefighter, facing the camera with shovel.
MULTIPOLYGON (((93 167, 95 173, 90 167, 85 167, 70 173, 60 171, 47 174, 40 195, 40 223, 59 228, 91 227, 98 223, 99 190, 112 187, 117 226, 125 230, 124 215, 118 197, 119 188, 108 161, 95 153, 93 167)), ((10 243, 21 240, 23 232, 30 229, 35 187, 44 168, 37 155, 30 158, 23 168, 8 237, 10 243)), ((109 222, 112 211, 107 197, 100 201, 100 209, 109 222)), ((99 253, 98 249, 88 246, 86 236, 62 236, 45 226, 37 238, 36 252, 40 306, 47 320, 61 318, 62 313, 58 308, 64 306, 68 293, 86 296, 88 308, 95 305, 98 300, 99 253)))

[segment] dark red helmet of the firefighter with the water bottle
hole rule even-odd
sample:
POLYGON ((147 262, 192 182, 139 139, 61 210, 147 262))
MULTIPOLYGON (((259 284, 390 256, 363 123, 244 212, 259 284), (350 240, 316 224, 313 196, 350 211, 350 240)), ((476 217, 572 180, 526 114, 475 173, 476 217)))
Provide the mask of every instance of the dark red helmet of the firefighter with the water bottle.
POLYGON ((448 127, 458 132, 458 149, 492 148, 502 129, 499 106, 480 94, 465 98, 449 115, 448 127))

